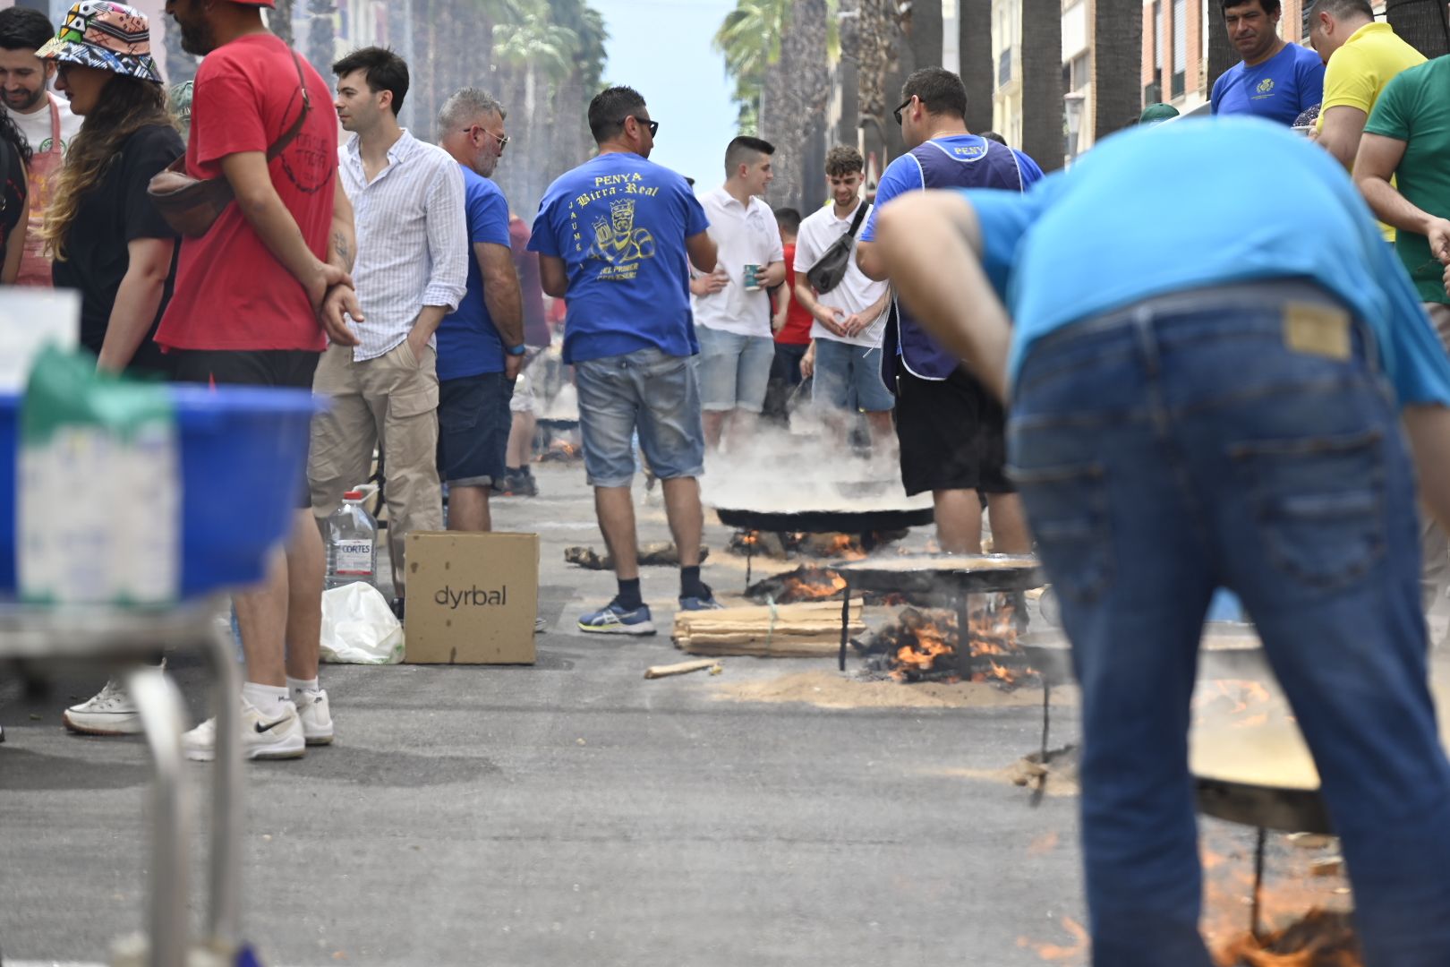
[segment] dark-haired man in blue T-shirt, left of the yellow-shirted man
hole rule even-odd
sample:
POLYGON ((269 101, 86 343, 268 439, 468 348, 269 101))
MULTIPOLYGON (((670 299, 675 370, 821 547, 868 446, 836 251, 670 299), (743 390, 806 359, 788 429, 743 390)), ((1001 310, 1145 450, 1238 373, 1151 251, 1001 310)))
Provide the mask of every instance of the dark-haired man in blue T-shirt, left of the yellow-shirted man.
POLYGON ((1221 3, 1228 39, 1243 59, 1214 81, 1214 113, 1257 115, 1292 125, 1324 97, 1320 55, 1279 36, 1279 0, 1221 3))

